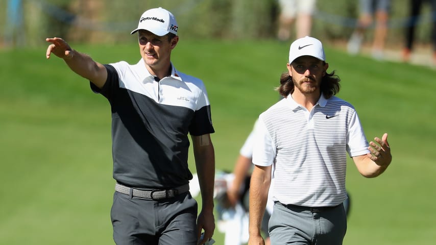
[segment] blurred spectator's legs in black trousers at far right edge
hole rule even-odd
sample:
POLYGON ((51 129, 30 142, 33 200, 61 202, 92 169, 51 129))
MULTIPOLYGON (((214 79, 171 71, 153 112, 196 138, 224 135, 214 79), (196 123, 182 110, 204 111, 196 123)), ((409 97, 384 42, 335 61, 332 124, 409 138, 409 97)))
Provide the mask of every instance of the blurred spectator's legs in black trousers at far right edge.
POLYGON ((431 5, 431 19, 433 23, 431 43, 433 46, 433 63, 436 64, 436 0, 409 0, 409 20, 406 28, 406 45, 403 50, 402 58, 405 62, 410 59, 410 53, 415 39, 415 29, 424 2, 428 2, 431 5))

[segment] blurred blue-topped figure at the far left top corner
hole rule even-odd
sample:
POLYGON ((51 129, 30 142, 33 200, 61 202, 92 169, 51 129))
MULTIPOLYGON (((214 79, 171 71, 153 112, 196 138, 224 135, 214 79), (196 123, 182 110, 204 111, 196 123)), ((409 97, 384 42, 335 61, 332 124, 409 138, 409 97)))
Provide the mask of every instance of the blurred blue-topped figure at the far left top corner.
POLYGON ((8 0, 6 13, 5 44, 6 46, 22 45, 24 32, 21 0, 8 0))

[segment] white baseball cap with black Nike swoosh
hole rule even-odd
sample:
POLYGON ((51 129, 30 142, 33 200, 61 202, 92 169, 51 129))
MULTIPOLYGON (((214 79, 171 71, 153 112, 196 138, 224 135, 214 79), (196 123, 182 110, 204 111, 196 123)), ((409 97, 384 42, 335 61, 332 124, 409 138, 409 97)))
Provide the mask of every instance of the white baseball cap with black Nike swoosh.
POLYGON ((323 44, 321 41, 309 36, 299 38, 290 44, 289 64, 298 57, 305 55, 313 56, 322 61, 326 60, 326 55, 324 53, 323 44))

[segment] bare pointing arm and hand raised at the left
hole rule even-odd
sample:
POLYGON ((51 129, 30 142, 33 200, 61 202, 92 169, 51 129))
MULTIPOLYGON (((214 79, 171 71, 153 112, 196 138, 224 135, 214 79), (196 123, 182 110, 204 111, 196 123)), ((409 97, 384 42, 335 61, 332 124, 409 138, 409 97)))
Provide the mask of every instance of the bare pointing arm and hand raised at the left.
POLYGON ((88 55, 73 50, 62 38, 46 38, 52 44, 47 47, 46 57, 50 59, 54 54, 63 59, 69 68, 83 78, 91 81, 95 86, 102 88, 107 79, 106 68, 92 60, 88 55))

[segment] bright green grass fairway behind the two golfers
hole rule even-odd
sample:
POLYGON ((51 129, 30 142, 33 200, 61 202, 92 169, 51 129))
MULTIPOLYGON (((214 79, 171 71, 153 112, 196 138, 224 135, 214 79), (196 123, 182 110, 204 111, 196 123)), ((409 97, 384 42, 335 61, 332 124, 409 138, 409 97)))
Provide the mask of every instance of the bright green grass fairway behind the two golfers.
MULTIPOLYGON (((134 43, 74 47, 103 63, 139 59, 134 43)), ((275 41, 181 40, 176 47, 176 67, 208 89, 218 169, 233 168, 255 118, 278 100, 287 53, 288 44, 275 41)), ((342 79, 338 96, 356 107, 369 140, 389 133, 393 153, 376 179, 349 162, 344 244, 433 244, 436 72, 326 53, 342 79)), ((0 244, 113 244, 106 99, 63 61, 45 60, 45 46, 0 57, 0 244)), ((223 234, 214 237, 223 244, 223 234)))

